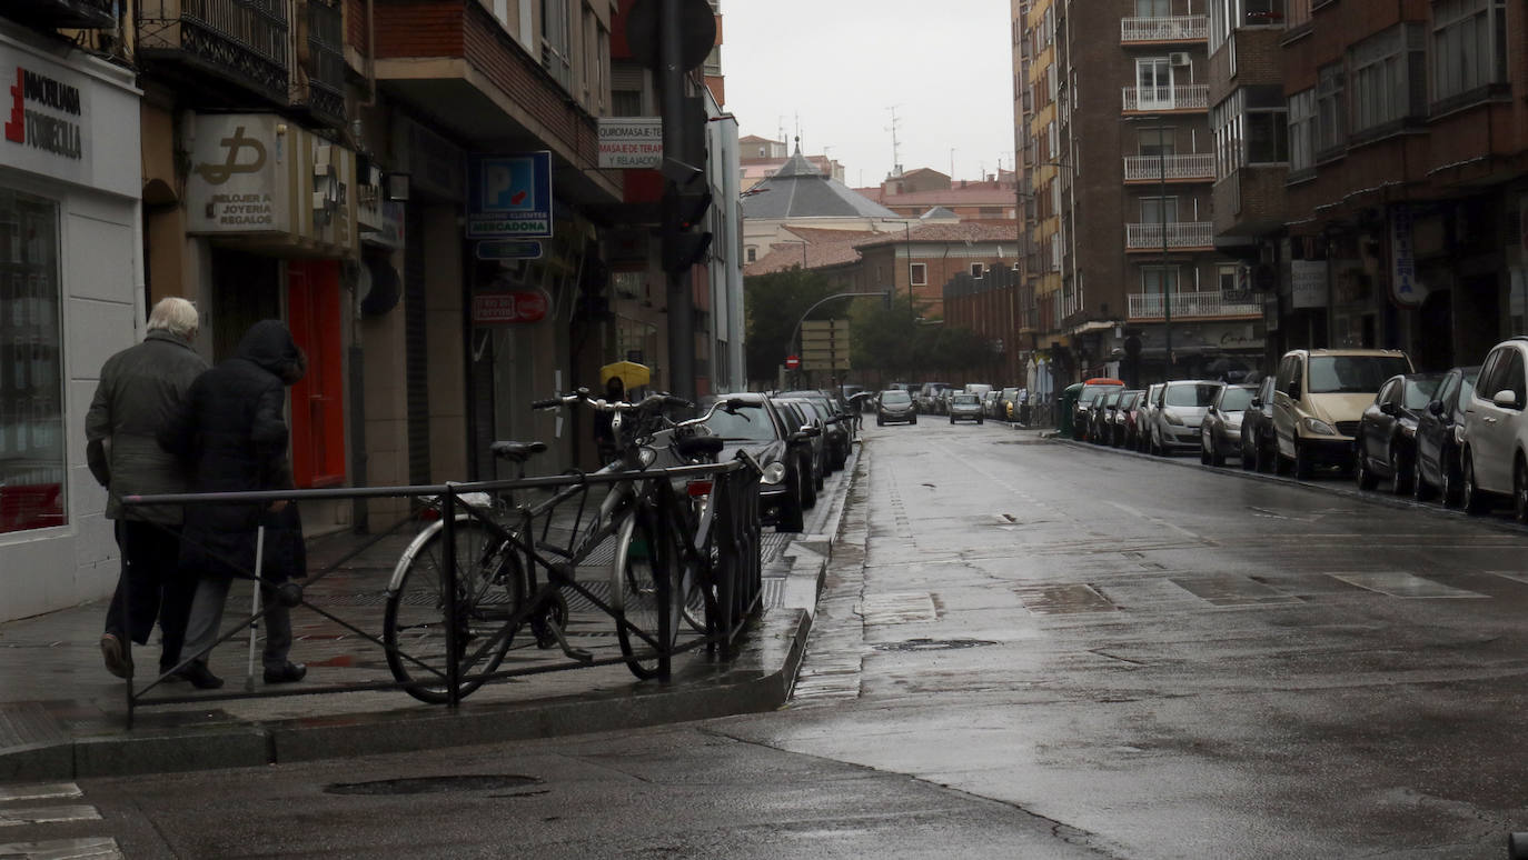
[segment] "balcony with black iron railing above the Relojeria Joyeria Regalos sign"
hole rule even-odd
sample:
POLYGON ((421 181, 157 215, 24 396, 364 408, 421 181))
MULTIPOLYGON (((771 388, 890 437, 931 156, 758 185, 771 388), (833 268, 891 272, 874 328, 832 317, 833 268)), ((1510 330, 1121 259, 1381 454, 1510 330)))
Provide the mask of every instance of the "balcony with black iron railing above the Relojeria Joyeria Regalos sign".
POLYGON ((287 104, 286 0, 139 0, 139 55, 287 104))

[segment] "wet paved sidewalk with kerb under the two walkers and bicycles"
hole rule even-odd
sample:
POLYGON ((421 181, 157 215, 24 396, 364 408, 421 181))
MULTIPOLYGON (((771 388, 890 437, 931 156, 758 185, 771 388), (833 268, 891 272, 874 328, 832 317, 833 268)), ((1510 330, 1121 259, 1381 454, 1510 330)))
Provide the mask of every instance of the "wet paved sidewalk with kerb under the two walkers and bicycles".
MULTIPOLYGON (((764 530, 764 609, 736 657, 723 663, 706 648, 680 654, 669 681, 637 681, 620 663, 542 672, 487 684, 454 712, 397 689, 307 695, 316 687, 393 681, 382 646, 356 631, 380 635, 387 584, 410 533, 384 538, 309 580, 304 600, 310 606, 292 609, 292 660, 307 663, 309 674, 298 684, 275 687, 284 693, 275 698, 254 695, 267 690, 258 654, 254 675, 248 674, 249 631, 243 623, 251 614, 249 582, 235 582, 225 614, 225 631, 241 629, 211 658, 223 689, 200 693, 183 683, 160 684, 141 698, 131 729, 127 683, 108 675, 101 661, 105 600, 0 623, 0 782, 419 750, 778 707, 795 681, 831 536, 851 475, 860 467, 856 455, 828 478, 808 512, 805 535, 764 530), (153 703, 167 697, 196 701, 153 703)), ((365 541, 370 538, 348 533, 312 539, 309 568, 321 571, 365 541)), ((593 556, 578 573, 596 594, 608 590, 601 558, 593 556)), ((593 606, 573 602, 567 632, 571 645, 596 658, 620 655, 614 622, 593 606)), ((133 657, 141 675, 153 672, 157 632, 148 646, 134 648, 133 657)), ((501 669, 549 663, 567 658, 556 648, 542 651, 516 637, 501 669)), ((134 683, 142 690, 151 680, 134 683)))

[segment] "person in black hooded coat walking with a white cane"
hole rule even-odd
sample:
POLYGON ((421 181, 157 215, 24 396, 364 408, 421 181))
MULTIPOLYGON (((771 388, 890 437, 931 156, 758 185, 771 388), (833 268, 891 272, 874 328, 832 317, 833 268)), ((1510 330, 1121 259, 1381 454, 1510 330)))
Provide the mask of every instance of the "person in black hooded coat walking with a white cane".
MULTIPOLYGON (((292 489, 286 386, 303 379, 306 371, 307 357, 292 342, 287 327, 263 319, 244 333, 234 357, 197 377, 185 409, 160 438, 189 464, 194 492, 292 489)), ((182 674, 197 687, 223 686, 206 663, 222 631, 228 590, 235 577, 252 576, 257 530, 264 518, 283 515, 287 506, 287 501, 200 504, 186 510, 180 564, 197 576, 197 590, 185 643, 193 661, 182 674)), ((275 599, 269 584, 261 585, 261 593, 270 608, 264 617, 266 683, 301 681, 307 668, 287 661, 290 611, 275 599)))

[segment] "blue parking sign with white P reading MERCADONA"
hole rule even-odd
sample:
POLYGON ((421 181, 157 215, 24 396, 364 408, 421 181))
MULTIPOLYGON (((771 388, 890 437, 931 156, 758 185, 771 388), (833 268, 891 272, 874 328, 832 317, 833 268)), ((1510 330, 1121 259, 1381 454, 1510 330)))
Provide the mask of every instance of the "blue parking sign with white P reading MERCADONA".
POLYGON ((552 237, 552 153, 477 156, 468 167, 468 238, 552 237))

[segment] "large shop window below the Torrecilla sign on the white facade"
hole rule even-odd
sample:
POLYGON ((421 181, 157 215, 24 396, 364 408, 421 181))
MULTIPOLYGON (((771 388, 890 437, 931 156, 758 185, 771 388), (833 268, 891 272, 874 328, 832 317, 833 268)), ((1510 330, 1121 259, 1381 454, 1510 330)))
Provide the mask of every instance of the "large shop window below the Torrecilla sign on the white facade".
POLYGON ((58 205, 0 189, 0 535, 67 522, 58 205))

